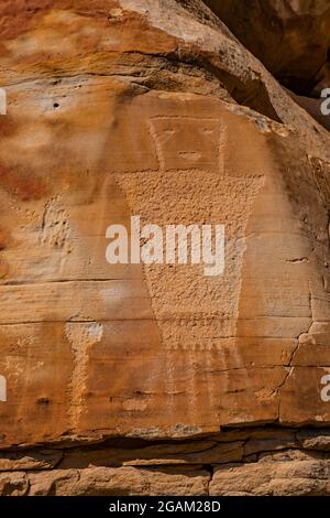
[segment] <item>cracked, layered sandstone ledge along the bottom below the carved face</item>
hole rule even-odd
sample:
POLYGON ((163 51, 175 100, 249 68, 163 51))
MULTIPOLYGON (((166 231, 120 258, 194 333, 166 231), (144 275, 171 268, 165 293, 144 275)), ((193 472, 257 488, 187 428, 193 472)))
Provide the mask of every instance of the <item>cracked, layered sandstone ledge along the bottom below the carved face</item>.
POLYGON ((1 496, 324 496, 329 477, 330 429, 238 429, 0 455, 1 496))

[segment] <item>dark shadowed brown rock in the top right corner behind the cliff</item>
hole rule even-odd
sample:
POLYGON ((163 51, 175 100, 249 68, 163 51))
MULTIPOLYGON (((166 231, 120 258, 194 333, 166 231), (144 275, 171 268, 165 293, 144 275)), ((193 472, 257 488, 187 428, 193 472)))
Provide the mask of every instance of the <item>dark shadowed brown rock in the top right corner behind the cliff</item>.
POLYGON ((328 0, 205 0, 286 86, 319 94, 330 84, 328 0))

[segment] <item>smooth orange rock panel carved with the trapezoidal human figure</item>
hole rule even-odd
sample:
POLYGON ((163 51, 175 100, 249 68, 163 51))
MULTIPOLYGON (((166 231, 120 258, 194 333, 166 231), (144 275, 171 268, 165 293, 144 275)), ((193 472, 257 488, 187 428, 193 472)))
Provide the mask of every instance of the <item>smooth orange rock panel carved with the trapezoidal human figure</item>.
POLYGON ((0 143, 2 445, 276 420, 316 273, 286 262, 308 247, 271 137, 200 95, 89 78, 45 85, 40 106, 40 88, 14 87, 0 143), (224 274, 108 265, 107 227, 134 214, 223 224, 224 274))

